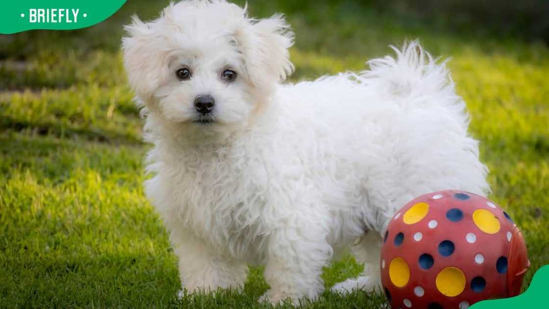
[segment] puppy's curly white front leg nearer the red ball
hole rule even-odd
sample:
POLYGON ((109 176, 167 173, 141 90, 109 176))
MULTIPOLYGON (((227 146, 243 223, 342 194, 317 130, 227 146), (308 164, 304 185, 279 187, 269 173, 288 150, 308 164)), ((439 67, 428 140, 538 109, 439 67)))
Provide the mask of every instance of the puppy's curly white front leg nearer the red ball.
POLYGON ((271 285, 260 299, 276 305, 279 301, 307 297, 315 300, 323 291, 321 274, 332 257, 327 231, 318 222, 294 222, 270 235, 265 280, 271 285))

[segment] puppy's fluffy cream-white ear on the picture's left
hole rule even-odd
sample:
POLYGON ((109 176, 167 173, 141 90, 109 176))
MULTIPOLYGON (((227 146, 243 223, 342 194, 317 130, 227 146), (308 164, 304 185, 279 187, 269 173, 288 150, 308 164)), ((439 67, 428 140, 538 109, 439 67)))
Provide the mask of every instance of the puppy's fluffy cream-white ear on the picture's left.
POLYGON ((128 36, 122 38, 122 52, 128 81, 136 94, 147 102, 166 76, 161 69, 166 67, 166 57, 158 48, 162 37, 152 29, 151 23, 143 23, 136 15, 124 28, 128 36))

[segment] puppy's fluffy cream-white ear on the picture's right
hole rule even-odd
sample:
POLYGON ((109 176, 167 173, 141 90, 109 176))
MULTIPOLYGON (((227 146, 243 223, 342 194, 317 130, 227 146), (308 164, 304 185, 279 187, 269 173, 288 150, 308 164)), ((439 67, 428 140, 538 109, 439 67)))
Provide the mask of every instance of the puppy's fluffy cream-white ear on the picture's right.
POLYGON ((294 71, 288 48, 294 33, 281 14, 252 23, 235 34, 242 48, 246 69, 254 83, 284 81, 294 71))

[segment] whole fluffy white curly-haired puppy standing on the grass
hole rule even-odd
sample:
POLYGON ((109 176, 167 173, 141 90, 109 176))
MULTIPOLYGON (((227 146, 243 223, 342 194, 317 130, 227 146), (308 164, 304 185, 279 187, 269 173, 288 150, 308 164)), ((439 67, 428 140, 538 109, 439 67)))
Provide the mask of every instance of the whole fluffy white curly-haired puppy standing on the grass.
POLYGON ((396 209, 430 191, 489 190, 465 104, 416 42, 369 70, 294 85, 281 84, 293 71, 282 15, 190 0, 126 30, 154 145, 146 194, 189 291, 241 288, 248 264, 264 264, 265 299, 315 299, 322 267, 349 247, 365 271, 333 289, 371 290, 396 209))

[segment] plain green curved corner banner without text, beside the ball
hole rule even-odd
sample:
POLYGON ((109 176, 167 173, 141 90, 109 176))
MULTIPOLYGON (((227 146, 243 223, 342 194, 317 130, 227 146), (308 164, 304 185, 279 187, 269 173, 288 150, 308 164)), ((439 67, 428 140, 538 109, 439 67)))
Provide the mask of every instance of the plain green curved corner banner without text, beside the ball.
POLYGON ((546 308, 547 286, 549 286, 549 265, 541 267, 534 274, 528 290, 523 294, 507 299, 479 301, 471 309, 516 309, 546 308))

